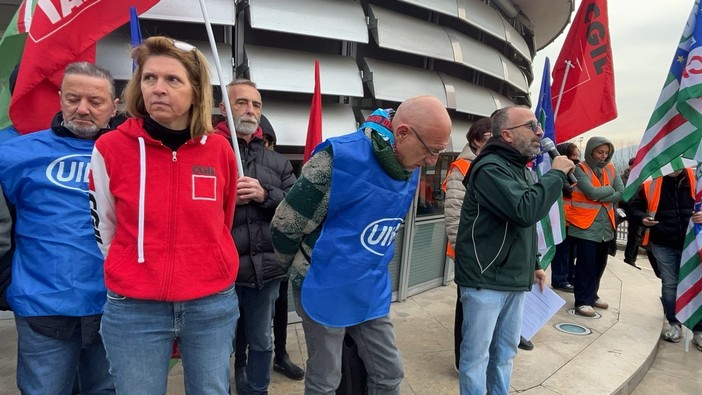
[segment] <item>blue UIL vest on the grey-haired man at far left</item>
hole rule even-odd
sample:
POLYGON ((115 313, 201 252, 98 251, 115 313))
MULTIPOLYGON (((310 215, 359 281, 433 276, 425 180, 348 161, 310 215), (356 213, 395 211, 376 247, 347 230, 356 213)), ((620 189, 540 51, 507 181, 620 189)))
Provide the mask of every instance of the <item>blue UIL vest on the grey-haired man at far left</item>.
POLYGON ((0 144, 0 184, 17 210, 7 300, 19 316, 102 313, 103 257, 88 198, 94 144, 51 130, 0 144))

